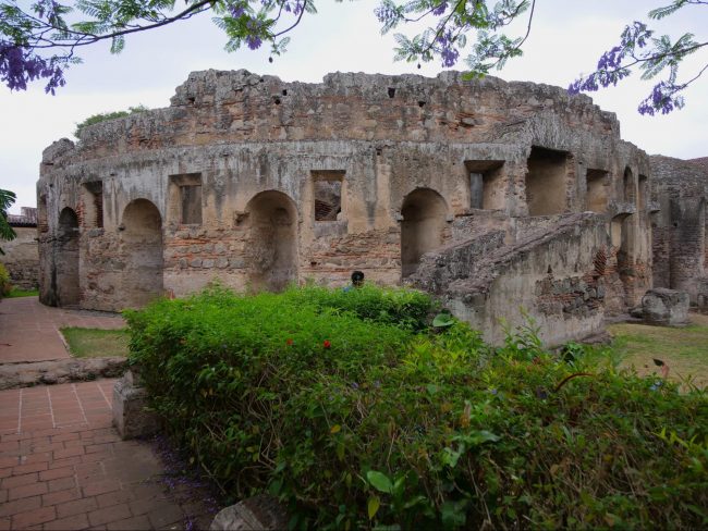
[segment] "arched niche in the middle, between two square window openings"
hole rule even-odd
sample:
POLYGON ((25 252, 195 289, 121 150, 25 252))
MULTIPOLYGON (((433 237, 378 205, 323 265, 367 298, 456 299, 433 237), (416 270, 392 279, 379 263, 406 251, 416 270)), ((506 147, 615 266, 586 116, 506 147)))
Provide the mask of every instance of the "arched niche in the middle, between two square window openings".
POLYGON ((297 208, 282 192, 266 190, 246 205, 248 281, 254 289, 282 291, 297 279, 297 208))

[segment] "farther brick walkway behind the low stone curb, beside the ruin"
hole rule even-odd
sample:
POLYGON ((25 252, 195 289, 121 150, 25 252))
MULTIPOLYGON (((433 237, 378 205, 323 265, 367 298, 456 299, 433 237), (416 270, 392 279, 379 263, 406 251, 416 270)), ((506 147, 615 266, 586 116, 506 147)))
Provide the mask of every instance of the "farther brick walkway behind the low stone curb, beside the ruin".
POLYGON ((0 302, 0 363, 69 358, 61 326, 121 329, 123 318, 86 310, 64 310, 39 304, 37 297, 0 302))

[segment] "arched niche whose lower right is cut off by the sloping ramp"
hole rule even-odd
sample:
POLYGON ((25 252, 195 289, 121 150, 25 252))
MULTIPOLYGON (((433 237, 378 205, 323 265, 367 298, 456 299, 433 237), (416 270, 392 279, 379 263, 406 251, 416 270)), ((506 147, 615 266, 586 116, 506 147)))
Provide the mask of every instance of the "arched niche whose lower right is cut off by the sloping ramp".
POLYGON ((430 188, 416 188, 401 207, 401 274, 414 273, 420 257, 442 245, 448 205, 430 188))

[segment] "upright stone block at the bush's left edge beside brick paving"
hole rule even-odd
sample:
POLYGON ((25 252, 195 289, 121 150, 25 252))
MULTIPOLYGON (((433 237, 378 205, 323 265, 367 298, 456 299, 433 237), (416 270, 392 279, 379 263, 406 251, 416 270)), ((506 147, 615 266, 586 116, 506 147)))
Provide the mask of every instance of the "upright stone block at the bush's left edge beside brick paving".
POLYGON ((113 386, 113 425, 124 441, 151 435, 159 429, 157 415, 148 409, 147 392, 135 385, 131 371, 113 386))

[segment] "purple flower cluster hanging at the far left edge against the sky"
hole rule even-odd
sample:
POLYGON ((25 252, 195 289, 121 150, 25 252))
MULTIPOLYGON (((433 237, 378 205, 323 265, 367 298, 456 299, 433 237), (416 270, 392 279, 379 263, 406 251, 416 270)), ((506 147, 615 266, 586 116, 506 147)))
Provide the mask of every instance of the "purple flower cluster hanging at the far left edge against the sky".
POLYGON ((47 79, 45 92, 65 85, 64 71, 56 59, 45 59, 20 46, 0 40, 0 81, 10 90, 26 90, 27 83, 47 79))

